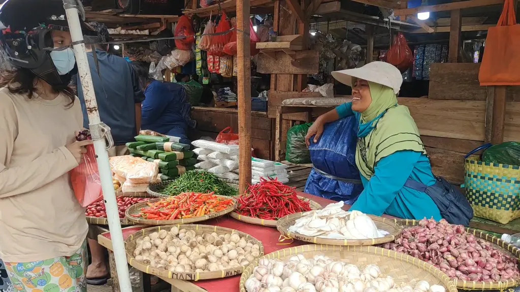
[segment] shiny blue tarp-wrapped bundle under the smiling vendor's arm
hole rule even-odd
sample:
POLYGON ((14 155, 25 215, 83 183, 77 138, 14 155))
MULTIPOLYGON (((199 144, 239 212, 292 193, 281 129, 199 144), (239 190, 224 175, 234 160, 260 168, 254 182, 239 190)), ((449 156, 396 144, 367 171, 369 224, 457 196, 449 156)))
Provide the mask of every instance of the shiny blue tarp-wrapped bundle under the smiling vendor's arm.
POLYGON ((310 139, 310 160, 317 169, 310 172, 306 193, 346 204, 356 201, 363 190, 356 167, 357 129, 356 117, 345 117, 325 125, 318 143, 310 139))

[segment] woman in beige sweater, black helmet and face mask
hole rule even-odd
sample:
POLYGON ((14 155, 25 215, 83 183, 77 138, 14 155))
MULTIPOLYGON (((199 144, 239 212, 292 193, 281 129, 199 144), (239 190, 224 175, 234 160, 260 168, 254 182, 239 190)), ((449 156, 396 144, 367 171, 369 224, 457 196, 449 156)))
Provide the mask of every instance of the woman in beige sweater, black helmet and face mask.
POLYGON ((68 87, 75 59, 63 3, 9 0, 0 21, 15 68, 0 76, 0 258, 18 290, 86 291, 88 225, 69 171, 90 142, 75 141, 83 117, 68 87))

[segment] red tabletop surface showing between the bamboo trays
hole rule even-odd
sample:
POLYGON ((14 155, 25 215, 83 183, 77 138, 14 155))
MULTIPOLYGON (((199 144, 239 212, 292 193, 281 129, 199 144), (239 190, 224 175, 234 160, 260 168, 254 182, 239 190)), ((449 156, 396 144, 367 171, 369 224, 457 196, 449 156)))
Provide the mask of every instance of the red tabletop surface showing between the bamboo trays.
MULTIPOLYGON (((299 196, 304 196, 307 198, 310 198, 311 200, 319 203, 323 207, 330 204, 335 203, 335 201, 329 200, 327 198, 318 197, 311 194, 306 194, 302 192, 297 193, 299 196)), ((343 209, 348 210, 350 208, 350 205, 345 205, 343 209)), ((291 244, 287 244, 288 241, 284 241, 283 244, 281 244, 278 239, 280 237, 280 232, 274 227, 265 227, 261 225, 254 225, 245 223, 242 221, 238 221, 234 218, 231 218, 228 215, 225 215, 223 217, 215 218, 208 221, 200 222, 200 224, 204 225, 217 225, 220 227, 226 227, 231 228, 235 230, 242 231, 244 233, 248 233, 255 237, 257 240, 261 241, 264 245, 264 254, 270 254, 273 251, 288 248, 288 247, 294 247, 298 245, 304 245, 309 244, 307 242, 297 241, 295 240, 291 244)), ((123 228, 123 238, 126 240, 126 237, 128 237, 130 234, 133 234, 134 232, 142 229, 142 227, 129 227, 129 228, 123 228)), ((103 233, 102 236, 105 236, 107 238, 110 238, 110 233, 103 233)), ((222 290, 222 287, 235 287, 231 289, 232 291, 237 291, 239 287, 240 282, 240 275, 233 276, 233 277, 227 277, 227 278, 219 278, 219 279, 212 279, 212 280, 201 280, 197 282, 193 282, 197 286, 206 289, 207 291, 213 292, 213 291, 220 291, 222 290)))

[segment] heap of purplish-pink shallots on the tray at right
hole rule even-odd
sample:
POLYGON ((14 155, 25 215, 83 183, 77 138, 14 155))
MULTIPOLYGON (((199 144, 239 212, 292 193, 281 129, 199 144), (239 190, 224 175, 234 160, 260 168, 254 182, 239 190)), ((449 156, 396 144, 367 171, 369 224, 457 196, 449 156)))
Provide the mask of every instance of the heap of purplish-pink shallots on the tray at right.
POLYGON ((493 245, 466 233, 463 225, 441 219, 422 219, 416 227, 405 229, 392 249, 433 264, 451 278, 463 281, 506 281, 520 277, 518 260, 493 245))

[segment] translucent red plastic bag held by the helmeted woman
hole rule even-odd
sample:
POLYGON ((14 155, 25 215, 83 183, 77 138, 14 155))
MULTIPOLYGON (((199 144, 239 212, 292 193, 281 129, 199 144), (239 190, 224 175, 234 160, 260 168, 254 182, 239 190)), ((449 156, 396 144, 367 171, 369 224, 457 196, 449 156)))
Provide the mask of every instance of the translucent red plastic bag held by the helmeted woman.
MULTIPOLYGON (((90 139, 90 135, 87 135, 87 131, 82 131, 76 140, 90 139)), ((86 149, 81 164, 70 171, 72 190, 82 207, 87 207, 103 196, 94 145, 86 145, 86 149)))

